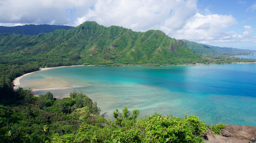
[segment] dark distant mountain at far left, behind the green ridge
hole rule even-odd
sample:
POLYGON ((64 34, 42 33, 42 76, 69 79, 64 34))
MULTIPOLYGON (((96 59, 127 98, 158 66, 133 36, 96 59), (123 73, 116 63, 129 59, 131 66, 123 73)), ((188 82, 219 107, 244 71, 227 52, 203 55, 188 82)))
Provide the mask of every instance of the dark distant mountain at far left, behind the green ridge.
POLYGON ((48 24, 40 24, 40 25, 22 25, 22 26, 0 26, 0 33, 10 34, 10 35, 37 35, 39 33, 50 33, 54 32, 56 29, 65 29, 69 30, 74 28, 73 26, 66 25, 48 25, 48 24))

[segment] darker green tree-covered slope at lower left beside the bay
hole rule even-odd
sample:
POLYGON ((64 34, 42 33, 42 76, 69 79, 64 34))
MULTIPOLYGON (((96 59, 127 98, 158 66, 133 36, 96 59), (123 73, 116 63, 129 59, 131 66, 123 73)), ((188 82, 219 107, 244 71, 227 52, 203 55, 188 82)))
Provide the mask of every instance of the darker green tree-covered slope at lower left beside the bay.
MULTIPOLYGON (((13 94, 13 103, 0 104, 1 142, 45 142, 54 134, 75 133, 82 122, 95 126, 105 122, 98 116, 97 103, 83 94, 75 94, 74 100, 55 99, 51 92, 34 97, 30 90, 22 88, 13 94), (78 112, 79 107, 86 112, 78 112)), ((8 98, 4 97, 2 101, 8 98)))

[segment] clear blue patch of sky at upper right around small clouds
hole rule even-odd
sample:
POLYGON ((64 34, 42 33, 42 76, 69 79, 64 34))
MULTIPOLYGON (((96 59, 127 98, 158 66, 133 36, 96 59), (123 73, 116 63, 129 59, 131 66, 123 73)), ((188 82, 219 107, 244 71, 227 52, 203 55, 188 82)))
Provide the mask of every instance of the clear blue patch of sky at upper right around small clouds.
POLYGON ((236 23, 224 28, 225 31, 234 31, 238 35, 243 35, 246 31, 244 26, 251 26, 251 35, 254 40, 242 42, 241 40, 234 40, 232 42, 212 42, 212 45, 221 47, 236 47, 243 49, 256 48, 255 36, 256 36, 256 1, 254 0, 199 0, 198 1, 199 12, 207 14, 218 15, 230 15, 235 18, 236 23), (206 9, 206 10, 205 10, 206 9), (207 12, 209 11, 209 12, 207 12))

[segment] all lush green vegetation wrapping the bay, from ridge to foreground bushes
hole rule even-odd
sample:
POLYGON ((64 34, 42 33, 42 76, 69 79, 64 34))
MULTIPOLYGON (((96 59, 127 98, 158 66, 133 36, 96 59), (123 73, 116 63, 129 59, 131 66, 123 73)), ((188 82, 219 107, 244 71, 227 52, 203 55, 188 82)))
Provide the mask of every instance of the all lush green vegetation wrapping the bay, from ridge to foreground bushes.
POLYGON ((13 90, 12 81, 39 67, 70 65, 177 65, 255 62, 229 56, 201 56, 182 40, 162 31, 134 32, 119 26, 85 22, 74 29, 36 36, 0 34, 1 142, 202 142, 206 126, 196 116, 159 115, 137 119, 114 111, 115 120, 100 117, 97 102, 82 93, 55 99, 30 90, 13 90))

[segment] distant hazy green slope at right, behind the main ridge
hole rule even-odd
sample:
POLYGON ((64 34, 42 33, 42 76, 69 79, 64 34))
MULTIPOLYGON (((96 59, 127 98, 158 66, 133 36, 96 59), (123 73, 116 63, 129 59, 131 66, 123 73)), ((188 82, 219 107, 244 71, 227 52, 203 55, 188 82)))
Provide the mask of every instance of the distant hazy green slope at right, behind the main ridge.
POLYGON ((197 42, 192 42, 189 40, 182 40, 182 41, 187 44, 187 47, 191 51, 193 51, 194 53, 200 54, 200 55, 224 55, 224 54, 239 54, 239 53, 246 53, 246 52, 256 52, 253 50, 211 46, 211 45, 207 45, 207 44, 200 44, 197 42))

